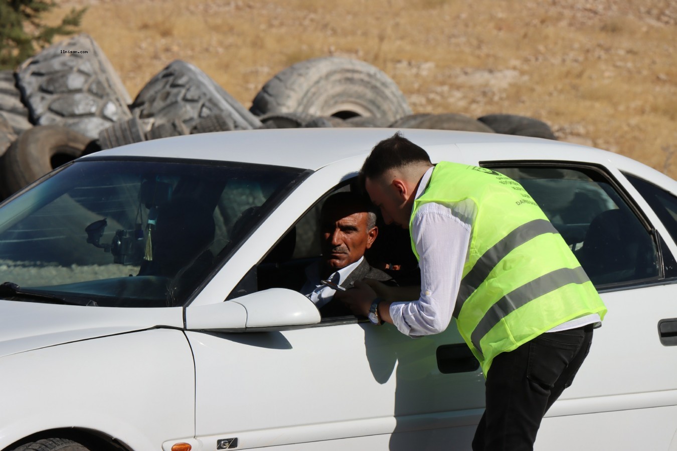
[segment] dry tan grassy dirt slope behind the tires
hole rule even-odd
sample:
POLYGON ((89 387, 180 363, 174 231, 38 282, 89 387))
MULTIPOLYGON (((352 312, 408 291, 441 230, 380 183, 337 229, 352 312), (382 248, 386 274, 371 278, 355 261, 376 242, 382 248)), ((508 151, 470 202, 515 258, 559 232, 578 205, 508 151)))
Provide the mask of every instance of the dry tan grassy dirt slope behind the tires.
POLYGON ((414 112, 533 116, 563 141, 677 178, 674 0, 57 0, 131 98, 173 60, 243 105, 269 78, 324 55, 385 71, 414 112))

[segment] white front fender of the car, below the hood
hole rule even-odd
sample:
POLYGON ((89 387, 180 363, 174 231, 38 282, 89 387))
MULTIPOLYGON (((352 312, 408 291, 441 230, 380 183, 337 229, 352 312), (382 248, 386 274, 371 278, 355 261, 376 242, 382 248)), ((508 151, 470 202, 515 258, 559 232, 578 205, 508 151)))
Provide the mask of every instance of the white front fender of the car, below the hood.
POLYGON ((0 358, 0 449, 46 431, 99 431, 132 450, 194 436, 194 363, 183 331, 152 329, 0 358), (17 371, 20 369, 20 371, 17 371))

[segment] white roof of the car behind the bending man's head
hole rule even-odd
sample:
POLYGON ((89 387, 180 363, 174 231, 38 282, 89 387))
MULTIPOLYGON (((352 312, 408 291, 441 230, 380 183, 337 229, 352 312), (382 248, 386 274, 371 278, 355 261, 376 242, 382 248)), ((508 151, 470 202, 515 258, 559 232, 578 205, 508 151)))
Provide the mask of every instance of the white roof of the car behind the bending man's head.
MULTIPOLYGON (((394 128, 283 128, 238 130, 155 139, 99 151, 83 158, 157 157, 271 164, 318 170, 348 158, 364 160, 391 137, 394 128)), ((669 179, 624 156, 563 141, 456 130, 403 129, 402 135, 426 149, 433 162, 553 160, 586 162, 631 170, 647 179, 669 179)), ((672 179, 670 179, 672 181, 672 179)))

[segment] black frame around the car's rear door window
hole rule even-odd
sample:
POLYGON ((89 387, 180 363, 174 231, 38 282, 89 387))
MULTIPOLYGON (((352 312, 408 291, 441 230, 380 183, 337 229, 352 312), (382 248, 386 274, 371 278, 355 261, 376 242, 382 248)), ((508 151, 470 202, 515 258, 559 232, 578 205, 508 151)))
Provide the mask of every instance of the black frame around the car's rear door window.
POLYGON ((634 288, 643 288, 650 287, 653 285, 665 285, 667 283, 677 283, 677 277, 666 277, 666 267, 670 260, 674 261, 674 256, 670 253, 663 237, 658 233, 658 231, 653 227, 651 221, 638 206, 636 200, 626 187, 618 181, 618 179, 613 176, 611 171, 606 166, 601 164, 586 163, 586 162, 572 162, 572 161, 563 161, 563 160, 492 160, 492 161, 480 161, 479 166, 483 168, 519 168, 519 167, 529 167, 529 168, 560 168, 560 169, 571 169, 571 170, 580 170, 584 172, 594 172, 596 175, 600 176, 603 180, 609 183, 609 186, 615 190, 617 195, 621 198, 622 201, 626 203, 626 206, 630 208, 630 211, 638 218, 642 227, 649 234, 653 243, 655 245, 657 260, 658 260, 658 272, 657 277, 650 277, 647 279, 635 279, 627 282, 614 282, 614 283, 604 283, 596 286, 598 292, 607 293, 611 291, 623 291, 626 289, 634 288))

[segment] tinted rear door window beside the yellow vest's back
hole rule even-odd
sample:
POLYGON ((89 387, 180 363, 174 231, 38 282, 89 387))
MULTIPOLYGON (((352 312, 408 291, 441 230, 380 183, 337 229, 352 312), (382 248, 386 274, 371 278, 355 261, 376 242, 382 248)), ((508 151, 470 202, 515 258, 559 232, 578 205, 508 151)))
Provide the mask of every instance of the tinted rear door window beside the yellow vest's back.
POLYGON ((566 166, 491 168, 521 183, 596 287, 661 276, 653 236, 600 172, 566 166))

